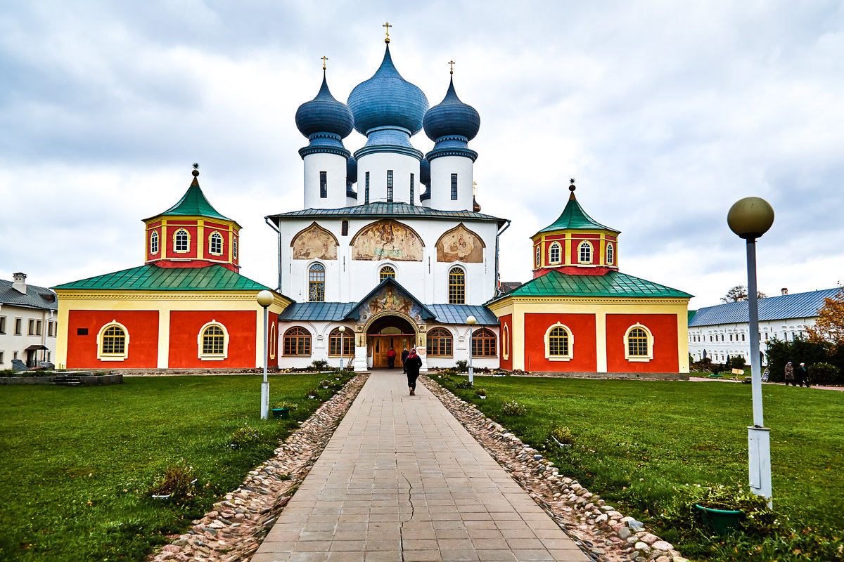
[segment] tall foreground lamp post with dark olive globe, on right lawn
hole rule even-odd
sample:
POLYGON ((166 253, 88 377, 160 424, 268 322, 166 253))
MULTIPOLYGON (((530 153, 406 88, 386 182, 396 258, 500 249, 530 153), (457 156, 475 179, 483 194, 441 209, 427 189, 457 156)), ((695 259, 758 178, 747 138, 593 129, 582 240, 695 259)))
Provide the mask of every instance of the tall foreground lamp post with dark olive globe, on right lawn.
POLYGON ((762 417, 762 377, 759 356, 759 302, 756 292, 756 238, 774 223, 774 210, 760 197, 736 201, 727 214, 733 233, 747 241, 747 292, 750 329, 750 378, 753 386, 753 426, 747 428, 750 490, 771 505, 771 430, 762 417))

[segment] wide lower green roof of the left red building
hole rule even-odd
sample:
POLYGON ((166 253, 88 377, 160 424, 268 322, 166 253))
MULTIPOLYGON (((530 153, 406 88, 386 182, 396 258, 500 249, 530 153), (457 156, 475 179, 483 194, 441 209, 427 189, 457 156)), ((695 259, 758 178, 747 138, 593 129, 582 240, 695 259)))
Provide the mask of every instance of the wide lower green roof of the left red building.
POLYGON ((53 287, 97 291, 262 291, 268 289, 222 265, 159 267, 148 264, 53 287))

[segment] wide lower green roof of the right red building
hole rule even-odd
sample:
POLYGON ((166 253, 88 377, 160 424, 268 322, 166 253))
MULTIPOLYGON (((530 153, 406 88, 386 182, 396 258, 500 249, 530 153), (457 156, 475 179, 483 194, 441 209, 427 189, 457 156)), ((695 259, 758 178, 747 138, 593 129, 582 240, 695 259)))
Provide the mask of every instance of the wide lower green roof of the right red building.
POLYGON ((687 292, 657 285, 620 271, 610 270, 603 276, 575 276, 551 270, 544 276, 527 281, 511 292, 496 297, 675 297, 691 298, 687 292))

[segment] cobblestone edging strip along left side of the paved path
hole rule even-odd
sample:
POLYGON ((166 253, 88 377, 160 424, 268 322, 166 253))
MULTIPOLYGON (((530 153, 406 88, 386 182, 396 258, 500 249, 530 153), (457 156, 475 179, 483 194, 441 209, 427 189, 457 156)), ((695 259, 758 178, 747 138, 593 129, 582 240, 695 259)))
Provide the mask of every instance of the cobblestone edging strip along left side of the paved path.
POLYGON ((214 504, 205 517, 173 543, 165 544, 149 562, 235 562, 255 554, 296 488, 311 471, 369 373, 346 383, 291 433, 275 457, 250 471, 237 490, 214 504))

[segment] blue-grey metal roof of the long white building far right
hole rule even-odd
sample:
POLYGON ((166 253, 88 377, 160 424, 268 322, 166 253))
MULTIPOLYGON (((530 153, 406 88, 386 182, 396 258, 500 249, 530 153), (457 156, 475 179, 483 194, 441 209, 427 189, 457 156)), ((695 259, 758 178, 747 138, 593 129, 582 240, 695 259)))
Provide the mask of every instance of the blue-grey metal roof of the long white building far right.
MULTIPOLYGON (((839 292, 823 289, 812 292, 795 292, 793 295, 777 295, 759 300, 760 320, 785 320, 787 318, 811 318, 818 315, 818 308, 824 306, 825 298, 832 298, 839 292)), ((748 301, 728 302, 714 307, 701 308, 691 318, 690 326, 713 326, 716 324, 743 324, 750 321, 748 301)))

